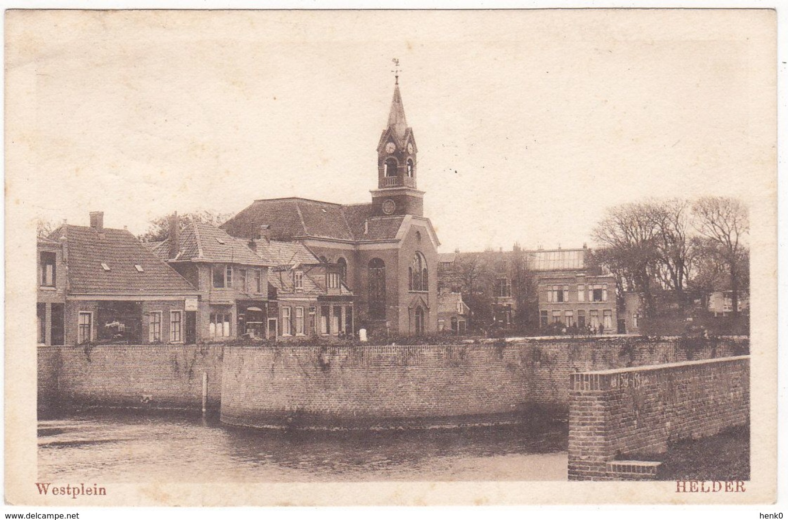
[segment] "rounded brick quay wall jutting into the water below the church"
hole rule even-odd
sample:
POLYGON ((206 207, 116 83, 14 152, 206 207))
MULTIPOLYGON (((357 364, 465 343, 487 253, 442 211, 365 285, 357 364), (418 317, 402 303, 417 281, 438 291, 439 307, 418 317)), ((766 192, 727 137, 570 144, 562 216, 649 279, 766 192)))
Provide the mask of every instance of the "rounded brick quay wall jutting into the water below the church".
POLYGON ((567 413, 570 376, 585 370, 723 355, 738 342, 534 340, 440 346, 228 347, 222 418, 245 425, 303 422, 470 422, 534 407, 567 413), (711 344, 714 344, 714 347, 711 344), (485 416, 486 418, 482 417, 485 416), (466 419, 465 419, 466 418, 466 419))

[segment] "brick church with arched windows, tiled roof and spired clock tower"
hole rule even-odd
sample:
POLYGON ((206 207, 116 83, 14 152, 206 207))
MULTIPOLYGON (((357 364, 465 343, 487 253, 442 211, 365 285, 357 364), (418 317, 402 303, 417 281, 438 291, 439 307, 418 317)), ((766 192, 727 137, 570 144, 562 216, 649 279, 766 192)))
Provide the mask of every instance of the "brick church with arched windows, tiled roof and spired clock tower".
POLYGON ((399 76, 377 143, 371 202, 337 204, 290 197, 260 199, 221 225, 248 240, 298 242, 336 267, 355 295, 354 332, 436 332, 437 247, 419 191, 418 147, 407 125, 399 76))

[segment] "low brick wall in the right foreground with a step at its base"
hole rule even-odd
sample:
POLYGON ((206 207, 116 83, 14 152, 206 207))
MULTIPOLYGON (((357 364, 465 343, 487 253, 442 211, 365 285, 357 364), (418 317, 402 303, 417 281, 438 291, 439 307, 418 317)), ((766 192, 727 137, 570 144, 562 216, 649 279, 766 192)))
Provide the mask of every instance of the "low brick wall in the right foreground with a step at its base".
POLYGON ((575 373, 570 480, 653 478, 668 443, 749 422, 749 356, 575 373))

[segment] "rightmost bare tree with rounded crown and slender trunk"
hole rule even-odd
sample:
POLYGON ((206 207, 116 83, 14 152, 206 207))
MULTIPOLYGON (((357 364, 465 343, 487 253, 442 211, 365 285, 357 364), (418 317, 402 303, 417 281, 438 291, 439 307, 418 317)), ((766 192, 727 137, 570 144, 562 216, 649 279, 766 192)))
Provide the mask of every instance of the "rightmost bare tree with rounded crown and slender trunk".
POLYGON ((703 197, 693 204, 692 210, 697 232, 708 240, 709 260, 717 259, 727 269, 733 312, 738 316, 739 291, 749 284, 747 208, 738 199, 703 197))

